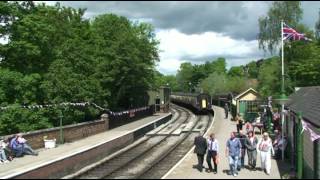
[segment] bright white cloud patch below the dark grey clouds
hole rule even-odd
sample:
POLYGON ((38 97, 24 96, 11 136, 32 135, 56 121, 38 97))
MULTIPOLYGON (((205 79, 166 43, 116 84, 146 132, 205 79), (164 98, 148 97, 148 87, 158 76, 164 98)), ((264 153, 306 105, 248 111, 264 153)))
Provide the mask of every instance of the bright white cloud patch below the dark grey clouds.
POLYGON ((225 57, 227 66, 231 67, 264 56, 258 49, 257 40, 235 40, 215 32, 187 35, 175 29, 158 30, 157 38, 161 60, 158 70, 165 74, 175 73, 181 63, 194 59, 205 61, 208 57, 225 57))

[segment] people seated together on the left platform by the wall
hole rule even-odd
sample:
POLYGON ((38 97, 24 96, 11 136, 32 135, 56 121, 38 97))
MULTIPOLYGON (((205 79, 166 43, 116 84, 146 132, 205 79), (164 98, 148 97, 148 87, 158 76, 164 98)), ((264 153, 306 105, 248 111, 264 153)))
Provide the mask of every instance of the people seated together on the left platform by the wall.
POLYGON ((0 139, 0 163, 8 163, 14 157, 22 157, 24 155, 37 156, 38 153, 33 150, 27 143, 27 140, 22 137, 22 134, 17 134, 11 139, 0 139))

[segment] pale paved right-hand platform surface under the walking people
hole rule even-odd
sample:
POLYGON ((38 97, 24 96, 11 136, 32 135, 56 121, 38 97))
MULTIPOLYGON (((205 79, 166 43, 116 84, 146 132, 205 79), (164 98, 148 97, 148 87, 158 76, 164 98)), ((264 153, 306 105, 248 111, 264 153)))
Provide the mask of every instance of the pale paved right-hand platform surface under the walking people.
MULTIPOLYGON (((218 165, 218 174, 207 173, 205 170, 201 173, 197 169, 193 168, 194 165, 197 164, 197 157, 192 152, 190 152, 185 159, 176 166, 176 168, 172 169, 171 172, 165 177, 166 179, 230 179, 230 178, 239 178, 239 179, 280 179, 281 172, 283 170, 288 172, 288 165, 278 163, 272 159, 272 169, 271 175, 266 175, 263 171, 249 171, 247 169, 242 169, 239 172, 237 177, 229 176, 226 174, 227 170, 229 170, 228 160, 225 157, 225 149, 227 139, 230 137, 230 133, 232 131, 236 131, 236 123, 230 121, 230 119, 224 119, 224 110, 219 107, 214 107, 215 110, 215 122, 213 127, 209 130, 210 132, 215 133, 216 138, 219 141, 220 145, 220 164, 218 165)), ((260 136, 258 136, 260 139, 260 136)), ((261 167, 260 154, 257 156, 257 168, 261 167)), ((245 165, 248 164, 248 158, 246 155, 245 165)), ((205 168, 208 167, 206 160, 204 162, 205 168)))

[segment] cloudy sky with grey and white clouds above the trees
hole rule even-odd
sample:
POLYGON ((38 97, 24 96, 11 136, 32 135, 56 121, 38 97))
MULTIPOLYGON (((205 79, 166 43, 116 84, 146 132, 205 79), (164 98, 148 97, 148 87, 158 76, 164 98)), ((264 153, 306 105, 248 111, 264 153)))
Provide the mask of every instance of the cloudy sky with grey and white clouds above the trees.
MULTIPOLYGON (((55 1, 44 1, 54 5, 55 1)), ((258 49, 258 18, 266 15, 272 2, 119 2, 63 1, 63 6, 86 8, 86 18, 115 13, 133 21, 149 22, 160 40, 161 61, 157 69, 175 74, 182 62, 200 64, 217 57, 227 67, 268 57, 258 49)), ((302 2, 302 23, 314 28, 320 2, 302 2)))

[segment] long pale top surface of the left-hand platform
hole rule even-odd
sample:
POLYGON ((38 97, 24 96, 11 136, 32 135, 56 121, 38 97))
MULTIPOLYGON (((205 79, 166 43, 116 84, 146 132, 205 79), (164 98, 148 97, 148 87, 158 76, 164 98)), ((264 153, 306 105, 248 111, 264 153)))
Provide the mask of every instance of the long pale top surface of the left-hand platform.
POLYGON ((168 113, 158 113, 153 116, 143 118, 141 120, 120 126, 118 128, 89 136, 85 139, 59 145, 54 149, 41 149, 39 156, 24 156, 23 158, 15 158, 12 162, 7 164, 0 164, 0 179, 6 178, 8 175, 16 174, 31 170, 43 164, 54 162, 58 159, 63 159, 72 154, 82 152, 93 146, 108 142, 116 137, 123 136, 141 126, 146 126, 155 120, 167 116, 168 113))

